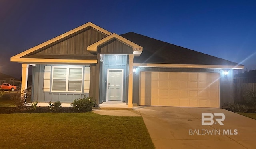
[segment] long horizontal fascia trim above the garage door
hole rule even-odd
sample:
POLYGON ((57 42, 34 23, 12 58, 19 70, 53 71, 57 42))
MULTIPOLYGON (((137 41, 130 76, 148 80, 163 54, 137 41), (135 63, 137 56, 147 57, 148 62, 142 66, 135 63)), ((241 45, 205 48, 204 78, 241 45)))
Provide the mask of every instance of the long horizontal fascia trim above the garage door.
POLYGON ((196 65, 196 64, 153 64, 134 63, 133 66, 140 67, 162 67, 162 68, 215 68, 215 69, 244 69, 241 65, 196 65))

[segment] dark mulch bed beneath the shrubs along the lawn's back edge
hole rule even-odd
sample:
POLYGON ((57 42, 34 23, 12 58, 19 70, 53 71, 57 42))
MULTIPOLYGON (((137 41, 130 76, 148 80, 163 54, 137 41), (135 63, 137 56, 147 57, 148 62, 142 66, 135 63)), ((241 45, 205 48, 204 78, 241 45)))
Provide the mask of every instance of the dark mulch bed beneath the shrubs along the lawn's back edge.
POLYGON ((36 111, 30 106, 17 107, 0 107, 0 114, 12 114, 12 113, 80 113, 84 111, 78 111, 73 107, 61 107, 60 111, 52 111, 49 107, 37 107, 36 111))

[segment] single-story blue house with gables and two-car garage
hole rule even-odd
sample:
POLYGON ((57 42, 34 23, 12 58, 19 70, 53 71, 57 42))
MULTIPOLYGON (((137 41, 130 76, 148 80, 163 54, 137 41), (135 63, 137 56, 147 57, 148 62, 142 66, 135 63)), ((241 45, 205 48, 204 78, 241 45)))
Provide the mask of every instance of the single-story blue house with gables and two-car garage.
POLYGON ((243 65, 129 32, 118 35, 88 22, 11 57, 28 67, 32 100, 91 96, 133 105, 222 107, 233 101, 233 70, 243 65))

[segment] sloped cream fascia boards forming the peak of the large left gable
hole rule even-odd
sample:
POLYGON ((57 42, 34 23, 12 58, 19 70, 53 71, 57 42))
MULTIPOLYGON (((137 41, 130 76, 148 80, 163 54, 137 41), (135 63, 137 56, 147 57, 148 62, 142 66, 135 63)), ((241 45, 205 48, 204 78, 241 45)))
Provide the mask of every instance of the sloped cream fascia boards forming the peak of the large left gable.
POLYGON ((93 24, 91 22, 88 22, 88 23, 86 23, 84 25, 81 25, 81 26, 79 26, 79 27, 77 27, 77 28, 75 28, 73 30, 70 30, 70 31, 68 31, 68 32, 66 32, 64 34, 61 34, 60 36, 52 38, 52 39, 50 39, 50 40, 48 40, 46 42, 43 42, 42 44, 39 44, 37 46, 34 46, 33 48, 30 48, 30 49, 28 49, 28 50, 26 50, 24 52, 21 52, 21 53, 15 55, 15 56, 12 56, 12 58, 21 58, 22 56, 25 56, 25 55, 27 55, 27 54, 29 54, 31 52, 34 52, 35 50, 38 50, 38 49, 40 49, 40 48, 42 48, 44 46, 47 46, 47 45, 49 45, 49 44, 51 44, 53 42, 56 42, 56 41, 58 41, 58 40, 60 40, 62 38, 65 38, 65 37, 69 36, 70 34, 73 34, 73 33, 78 32, 78 31, 80 31, 80 30, 82 30, 84 28, 87 28, 88 26, 91 26, 92 28, 95 28, 96 30, 98 30, 98 31, 100 31, 100 32, 102 32, 102 33, 104 33, 106 35, 110 35, 111 34, 111 32, 108 32, 107 30, 105 30, 105 29, 103 29, 103 28, 101 28, 99 26, 96 26, 95 24, 93 24))

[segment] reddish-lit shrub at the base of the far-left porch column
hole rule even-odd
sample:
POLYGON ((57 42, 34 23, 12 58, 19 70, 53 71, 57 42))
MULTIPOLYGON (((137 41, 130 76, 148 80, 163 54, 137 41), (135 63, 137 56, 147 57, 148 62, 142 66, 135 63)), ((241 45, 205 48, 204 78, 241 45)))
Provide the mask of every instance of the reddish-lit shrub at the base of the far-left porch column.
POLYGON ((27 94, 27 89, 24 89, 22 91, 17 91, 16 93, 12 93, 10 95, 10 99, 14 105, 17 106, 17 108, 23 107, 27 103, 27 99, 30 101, 30 94, 27 94), (21 96, 22 94, 22 96, 21 96))

